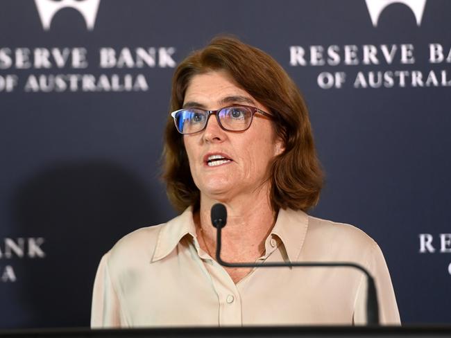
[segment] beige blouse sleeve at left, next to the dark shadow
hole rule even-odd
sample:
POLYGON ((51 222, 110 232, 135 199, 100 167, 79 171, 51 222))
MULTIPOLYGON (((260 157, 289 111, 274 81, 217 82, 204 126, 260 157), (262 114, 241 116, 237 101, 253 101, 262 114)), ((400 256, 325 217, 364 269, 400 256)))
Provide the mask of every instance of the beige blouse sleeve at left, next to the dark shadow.
POLYGON ((91 308, 92 328, 121 326, 119 299, 108 272, 108 256, 109 253, 106 253, 102 257, 94 281, 91 308))

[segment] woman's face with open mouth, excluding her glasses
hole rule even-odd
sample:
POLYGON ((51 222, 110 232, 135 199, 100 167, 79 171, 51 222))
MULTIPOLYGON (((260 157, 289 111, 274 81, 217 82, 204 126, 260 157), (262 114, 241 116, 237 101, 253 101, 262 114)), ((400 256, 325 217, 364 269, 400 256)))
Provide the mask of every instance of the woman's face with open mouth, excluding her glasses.
MULTIPOLYGON (((268 112, 224 71, 194 75, 183 105, 205 110, 250 105, 268 112)), ((282 152, 282 142, 276 139, 271 123, 255 114, 248 130, 227 132, 219 127, 216 116, 210 116, 203 132, 183 136, 189 168, 201 195, 228 202, 269 187, 269 165, 282 152), (212 161, 214 156, 222 159, 212 161)))

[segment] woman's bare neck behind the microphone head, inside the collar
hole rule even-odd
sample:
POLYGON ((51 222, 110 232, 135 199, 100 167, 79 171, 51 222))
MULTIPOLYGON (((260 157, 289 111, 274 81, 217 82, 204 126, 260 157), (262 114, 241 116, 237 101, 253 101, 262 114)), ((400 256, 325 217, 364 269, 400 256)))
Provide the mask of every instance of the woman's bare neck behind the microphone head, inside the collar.
POLYGON ((201 207, 194 215, 194 222, 199 230, 202 229, 201 247, 205 247, 203 249, 213 258, 216 253, 216 229, 211 224, 210 211, 218 202, 227 208, 227 224, 221 232, 221 258, 230 262, 246 262, 262 256, 264 241, 273 229, 276 215, 269 202, 269 189, 232 200, 201 195, 201 207))

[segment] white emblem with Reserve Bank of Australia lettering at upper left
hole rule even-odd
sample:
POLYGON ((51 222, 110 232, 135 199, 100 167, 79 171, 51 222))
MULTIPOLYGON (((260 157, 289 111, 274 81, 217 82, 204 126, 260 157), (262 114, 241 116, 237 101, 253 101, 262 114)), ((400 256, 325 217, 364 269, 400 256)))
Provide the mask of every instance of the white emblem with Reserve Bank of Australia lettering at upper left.
MULTIPOLYGON (((99 3, 100 0, 35 0, 44 30, 49 30, 53 17, 62 8, 76 9, 83 15, 87 29, 92 30, 99 3)), ((4 46, 0 47, 0 71, 5 71, 0 73, 0 93, 10 93, 17 87, 25 93, 148 91, 148 77, 138 70, 174 68, 175 53, 173 46, 98 46, 92 56, 83 46, 4 46), (92 63, 96 65, 93 67, 92 63), (90 71, 84 71, 89 66, 90 71), (15 72, 23 69, 26 71, 15 72), (56 69, 56 73, 51 69, 56 69)))

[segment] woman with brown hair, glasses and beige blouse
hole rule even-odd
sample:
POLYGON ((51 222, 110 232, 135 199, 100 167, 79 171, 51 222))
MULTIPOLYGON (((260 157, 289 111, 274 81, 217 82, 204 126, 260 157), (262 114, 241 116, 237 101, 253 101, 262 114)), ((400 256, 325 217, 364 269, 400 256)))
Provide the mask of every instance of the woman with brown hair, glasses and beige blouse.
POLYGON ((103 256, 92 326, 365 323, 366 278, 355 269, 219 265, 216 202, 228 211, 223 260, 364 265, 382 323, 400 322, 377 244, 305 213, 323 179, 303 98, 275 60, 237 39, 213 39, 176 69, 171 110, 164 179, 182 213, 126 235, 103 256))

